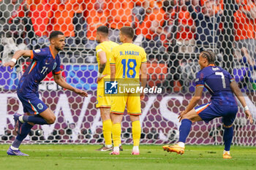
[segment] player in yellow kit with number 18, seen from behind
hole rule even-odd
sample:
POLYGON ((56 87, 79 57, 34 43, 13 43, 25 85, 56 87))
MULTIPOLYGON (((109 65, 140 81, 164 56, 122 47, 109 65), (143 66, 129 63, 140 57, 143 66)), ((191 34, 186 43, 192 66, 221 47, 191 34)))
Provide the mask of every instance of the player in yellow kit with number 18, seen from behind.
MULTIPOLYGON (((123 42, 122 45, 114 47, 110 60, 110 79, 115 80, 119 88, 121 83, 132 84, 131 88, 136 88, 141 82, 141 87, 146 86, 146 53, 142 47, 132 44, 134 30, 131 27, 124 26, 120 29, 119 38, 123 42), (141 74, 141 76, 140 76, 141 74), (136 85, 136 83, 138 83, 136 85)), ((115 84, 112 84, 115 86, 115 84)), ((117 87, 118 87, 117 86, 117 87)), ((112 88, 112 87, 111 87, 112 88)), ((128 86, 129 88, 129 86, 128 86)), ((138 87, 139 88, 139 87, 138 87)), ((113 152, 110 155, 119 155, 119 144, 121 144, 121 120, 123 118, 124 109, 127 105, 127 112, 132 121, 132 138, 133 148, 132 155, 139 155, 140 144, 140 99, 144 98, 144 93, 136 93, 135 91, 122 92, 111 96, 111 120, 113 123, 113 152)))

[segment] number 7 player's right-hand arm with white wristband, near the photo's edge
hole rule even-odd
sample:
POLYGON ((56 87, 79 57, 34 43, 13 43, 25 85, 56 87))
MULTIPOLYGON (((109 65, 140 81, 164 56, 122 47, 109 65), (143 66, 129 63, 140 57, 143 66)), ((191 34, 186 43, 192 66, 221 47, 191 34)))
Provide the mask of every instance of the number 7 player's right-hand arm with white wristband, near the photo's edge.
POLYGON ((235 81, 230 82, 230 88, 233 91, 233 93, 236 95, 236 97, 238 98, 238 100, 240 101, 240 103, 242 104, 242 106, 244 107, 244 112, 245 115, 247 117, 247 120, 249 120, 249 122, 252 124, 252 114, 251 112, 249 112, 249 108, 246 105, 246 101, 244 99, 243 94, 241 93, 240 88, 238 88, 238 85, 235 81))

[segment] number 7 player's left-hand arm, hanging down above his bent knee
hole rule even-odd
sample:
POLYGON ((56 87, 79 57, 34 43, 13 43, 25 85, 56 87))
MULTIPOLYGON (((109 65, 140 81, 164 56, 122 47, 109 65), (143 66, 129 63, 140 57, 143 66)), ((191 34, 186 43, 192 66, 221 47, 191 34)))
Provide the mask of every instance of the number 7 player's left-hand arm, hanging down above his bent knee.
POLYGON ((179 122, 181 121, 182 117, 187 114, 190 110, 192 110, 195 105, 197 105, 198 101, 200 100, 203 93, 203 87, 198 86, 195 88, 195 94, 191 98, 189 105, 187 106, 187 109, 181 112, 181 115, 178 116, 179 122))

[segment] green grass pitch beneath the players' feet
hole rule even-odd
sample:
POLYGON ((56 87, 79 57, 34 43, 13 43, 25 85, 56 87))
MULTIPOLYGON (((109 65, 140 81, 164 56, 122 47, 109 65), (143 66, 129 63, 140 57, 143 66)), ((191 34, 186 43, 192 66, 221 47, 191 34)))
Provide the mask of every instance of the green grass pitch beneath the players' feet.
POLYGON ((20 150, 29 157, 9 156, 9 145, 0 145, 0 169, 256 169, 256 147, 231 147, 233 159, 222 158, 222 146, 187 145, 184 155, 164 152, 162 145, 141 145, 140 155, 131 155, 124 145, 121 155, 95 151, 99 145, 27 144, 20 150))

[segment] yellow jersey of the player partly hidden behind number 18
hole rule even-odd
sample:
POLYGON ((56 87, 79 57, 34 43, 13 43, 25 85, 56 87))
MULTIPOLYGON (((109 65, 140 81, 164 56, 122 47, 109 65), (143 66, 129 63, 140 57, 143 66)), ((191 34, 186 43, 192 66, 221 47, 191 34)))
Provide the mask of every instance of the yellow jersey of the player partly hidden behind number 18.
POLYGON ((102 72, 103 75, 110 74, 111 51, 113 47, 116 47, 116 46, 118 46, 116 42, 108 41, 108 42, 102 42, 96 47, 96 57, 97 57, 98 66, 99 66, 99 52, 104 51, 106 53, 107 63, 104 71, 102 72))

